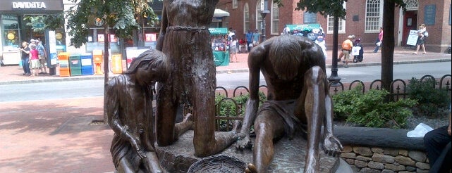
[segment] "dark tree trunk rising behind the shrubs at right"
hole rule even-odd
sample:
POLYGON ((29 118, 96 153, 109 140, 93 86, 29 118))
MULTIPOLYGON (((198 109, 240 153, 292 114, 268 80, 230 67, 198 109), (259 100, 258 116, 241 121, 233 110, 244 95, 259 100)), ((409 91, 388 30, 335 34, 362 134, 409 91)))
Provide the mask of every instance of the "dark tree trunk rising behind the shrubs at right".
POLYGON ((381 81, 382 88, 391 91, 394 60, 394 11, 393 1, 384 1, 383 7, 383 46, 381 46, 381 81))

